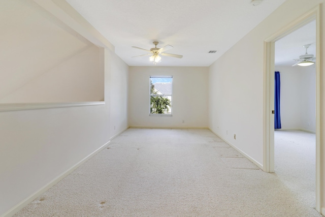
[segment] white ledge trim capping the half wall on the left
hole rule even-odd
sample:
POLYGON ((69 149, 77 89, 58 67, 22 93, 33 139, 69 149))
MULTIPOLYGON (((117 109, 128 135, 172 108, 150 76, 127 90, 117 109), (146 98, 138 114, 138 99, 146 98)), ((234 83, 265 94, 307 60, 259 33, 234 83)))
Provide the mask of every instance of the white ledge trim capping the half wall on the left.
POLYGON ((101 102, 73 102, 73 103, 8 103, 8 104, 0 104, 0 112, 27 110, 27 109, 47 109, 47 108, 97 106, 97 105, 105 105, 105 102, 101 101, 101 102))

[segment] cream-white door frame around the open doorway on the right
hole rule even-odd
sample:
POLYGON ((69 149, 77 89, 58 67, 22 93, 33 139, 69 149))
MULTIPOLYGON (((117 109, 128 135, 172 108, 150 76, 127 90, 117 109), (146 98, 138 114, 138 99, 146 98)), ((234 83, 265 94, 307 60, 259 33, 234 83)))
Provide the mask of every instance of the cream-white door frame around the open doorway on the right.
MULTIPOLYGON (((305 24, 316 20, 316 210, 321 212, 321 172, 320 172, 320 5, 313 8, 294 22, 289 23, 264 41, 264 147, 263 170, 274 172, 274 56, 275 42, 294 32, 305 24)), ((325 184, 325 183, 322 183, 325 184)), ((322 213, 323 214, 323 213, 322 213)))

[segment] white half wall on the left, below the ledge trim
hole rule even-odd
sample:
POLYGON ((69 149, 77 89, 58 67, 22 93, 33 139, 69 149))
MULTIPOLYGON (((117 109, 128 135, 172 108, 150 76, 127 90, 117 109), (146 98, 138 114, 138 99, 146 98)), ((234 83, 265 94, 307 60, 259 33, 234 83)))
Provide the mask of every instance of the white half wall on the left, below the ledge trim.
POLYGON ((109 141, 106 105, 0 112, 0 215, 109 141))

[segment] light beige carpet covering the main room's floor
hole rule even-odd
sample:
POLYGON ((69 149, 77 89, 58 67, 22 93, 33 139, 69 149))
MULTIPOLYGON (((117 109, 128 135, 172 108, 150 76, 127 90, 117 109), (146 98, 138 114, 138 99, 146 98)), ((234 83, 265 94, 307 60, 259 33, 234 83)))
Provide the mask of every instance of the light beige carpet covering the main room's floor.
POLYGON ((128 129, 15 216, 321 216, 209 130, 128 129))

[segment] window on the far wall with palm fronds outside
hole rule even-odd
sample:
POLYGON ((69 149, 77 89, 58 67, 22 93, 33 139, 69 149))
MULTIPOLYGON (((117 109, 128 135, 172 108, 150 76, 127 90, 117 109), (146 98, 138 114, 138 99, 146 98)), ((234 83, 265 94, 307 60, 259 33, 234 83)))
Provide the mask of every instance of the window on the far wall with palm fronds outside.
POLYGON ((150 115, 172 115, 172 76, 150 76, 150 115))

